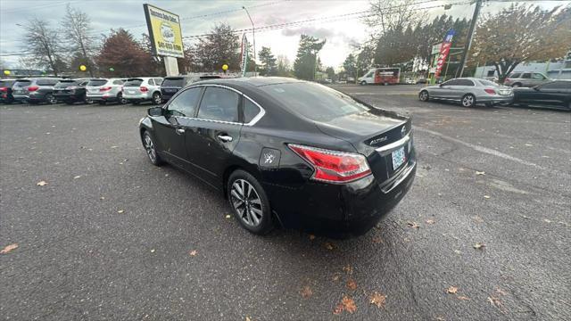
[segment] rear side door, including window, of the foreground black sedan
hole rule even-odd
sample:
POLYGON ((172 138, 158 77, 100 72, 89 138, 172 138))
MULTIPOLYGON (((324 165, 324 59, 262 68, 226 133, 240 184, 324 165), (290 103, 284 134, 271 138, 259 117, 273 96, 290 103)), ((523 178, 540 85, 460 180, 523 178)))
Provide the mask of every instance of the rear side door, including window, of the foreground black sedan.
POLYGON ((197 176, 220 187, 240 139, 242 95, 226 86, 204 86, 195 119, 186 125, 186 150, 197 176))

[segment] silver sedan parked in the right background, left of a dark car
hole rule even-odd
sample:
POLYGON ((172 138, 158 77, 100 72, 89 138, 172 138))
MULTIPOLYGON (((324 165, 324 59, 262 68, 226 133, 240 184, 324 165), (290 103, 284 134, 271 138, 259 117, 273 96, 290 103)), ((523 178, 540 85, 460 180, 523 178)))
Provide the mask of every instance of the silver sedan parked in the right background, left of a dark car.
POLYGON ((421 88, 418 99, 423 102, 430 99, 449 100, 462 103, 464 107, 474 107, 478 103, 492 106, 512 103, 514 93, 510 87, 499 86, 490 80, 453 78, 437 86, 421 88))

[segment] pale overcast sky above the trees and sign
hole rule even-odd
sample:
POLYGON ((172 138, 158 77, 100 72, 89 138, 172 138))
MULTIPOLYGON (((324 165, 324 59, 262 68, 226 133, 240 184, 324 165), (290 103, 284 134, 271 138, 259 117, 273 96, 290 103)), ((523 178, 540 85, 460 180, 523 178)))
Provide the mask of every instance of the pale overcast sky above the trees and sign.
MULTIPOLYGON (((470 17, 474 5, 469 0, 435 0, 426 4, 418 4, 423 17, 428 21, 434 16, 447 13, 454 17, 470 17), (444 11, 443 4, 454 4, 450 10, 444 11), (464 4, 457 4, 464 3, 464 4), (434 7, 434 8, 427 8, 434 7)), ((427 2, 418 0, 417 2, 427 2)), ((54 27, 58 26, 65 12, 65 5, 70 4, 91 17, 92 29, 95 35, 106 34, 109 29, 120 27, 128 29, 140 37, 146 32, 143 4, 153 4, 170 12, 177 13, 181 19, 183 36, 207 33, 220 22, 228 23, 234 29, 251 27, 247 15, 240 8, 249 7, 256 28, 291 21, 303 21, 314 18, 337 16, 368 9, 368 1, 362 0, 260 0, 260 1, 189 1, 189 0, 0 0, 0 57, 4 62, 15 67, 18 56, 4 56, 6 53, 19 53, 25 50, 21 40, 23 30, 18 23, 25 23, 30 18, 37 17, 48 21, 54 27), (231 12, 228 12, 231 11, 231 12), (205 14, 207 17, 196 17, 205 14)), ((526 3, 532 3, 527 1, 526 3)), ((559 4, 571 4, 571 1, 534 1, 543 8, 551 8, 559 4)), ((508 3, 489 3, 484 5, 483 12, 496 12, 508 3)), ((275 55, 284 54, 292 62, 295 58, 299 37, 302 33, 310 36, 327 38, 327 45, 319 53, 325 66, 339 67, 347 54, 352 52, 351 44, 364 41, 368 37, 367 27, 355 16, 346 16, 336 21, 315 21, 296 27, 260 31, 256 33, 258 51, 262 45, 271 47, 275 55), (353 19, 352 19, 353 18, 353 19)), ((249 37, 251 39, 251 37, 249 37)))

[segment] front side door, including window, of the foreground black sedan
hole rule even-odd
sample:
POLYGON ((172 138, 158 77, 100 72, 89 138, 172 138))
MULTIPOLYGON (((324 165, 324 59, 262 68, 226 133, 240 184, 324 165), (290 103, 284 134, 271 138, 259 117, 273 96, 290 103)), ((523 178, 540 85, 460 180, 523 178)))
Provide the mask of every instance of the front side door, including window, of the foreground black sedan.
POLYGON ((188 88, 173 97, 164 109, 164 116, 153 117, 153 134, 161 157, 181 169, 189 169, 185 130, 194 117, 202 88, 188 88))

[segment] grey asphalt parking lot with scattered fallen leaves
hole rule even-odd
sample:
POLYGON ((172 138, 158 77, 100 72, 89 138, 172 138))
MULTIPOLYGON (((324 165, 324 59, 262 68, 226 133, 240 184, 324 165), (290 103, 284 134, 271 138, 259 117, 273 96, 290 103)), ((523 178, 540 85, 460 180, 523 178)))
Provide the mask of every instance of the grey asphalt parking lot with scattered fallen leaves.
POLYGON ((336 87, 412 115, 418 151, 410 193, 349 240, 247 233, 146 159, 148 105, 0 106, 0 318, 571 319, 571 113, 336 87))

